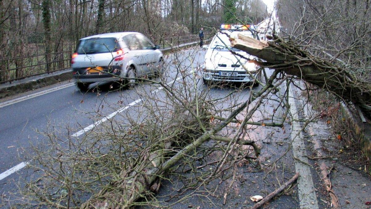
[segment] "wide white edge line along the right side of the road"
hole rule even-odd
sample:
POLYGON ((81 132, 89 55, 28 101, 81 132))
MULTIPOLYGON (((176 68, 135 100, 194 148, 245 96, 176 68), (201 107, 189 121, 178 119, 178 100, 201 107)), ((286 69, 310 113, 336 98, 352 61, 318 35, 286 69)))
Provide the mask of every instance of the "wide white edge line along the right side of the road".
POLYGON ((295 105, 294 96, 292 93, 292 88, 290 86, 289 90, 289 104, 290 104, 290 112, 293 114, 293 121, 292 121, 292 131, 291 131, 291 138, 294 139, 292 142, 292 149, 293 155, 295 158, 299 159, 300 162, 295 160, 295 170, 296 172, 300 173, 298 179, 298 192, 299 192, 299 201, 300 201, 300 208, 318 208, 317 202, 317 195, 314 190, 314 184, 311 174, 311 168, 308 166, 308 158, 306 156, 306 148, 303 136, 301 134, 302 127, 298 122, 298 109, 295 105), (307 164, 305 164, 307 163, 307 164))

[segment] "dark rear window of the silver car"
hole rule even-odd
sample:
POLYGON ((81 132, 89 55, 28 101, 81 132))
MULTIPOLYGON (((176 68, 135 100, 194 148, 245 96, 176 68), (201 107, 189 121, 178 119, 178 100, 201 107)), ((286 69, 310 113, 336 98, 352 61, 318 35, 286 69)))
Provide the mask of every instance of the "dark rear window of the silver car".
POLYGON ((120 46, 115 38, 91 38, 80 41, 77 54, 99 54, 116 52, 120 46))

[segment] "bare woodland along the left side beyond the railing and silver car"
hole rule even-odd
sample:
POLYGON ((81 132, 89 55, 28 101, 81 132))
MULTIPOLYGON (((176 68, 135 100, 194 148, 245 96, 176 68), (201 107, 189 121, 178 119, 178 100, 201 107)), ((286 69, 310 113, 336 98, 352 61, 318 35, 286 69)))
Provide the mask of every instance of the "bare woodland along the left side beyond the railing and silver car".
MULTIPOLYGON (((228 2, 248 23, 265 18, 260 0, 228 2)), ((178 36, 219 28, 228 10, 223 5, 220 0, 1 1, 0 83, 68 68, 78 40, 94 34, 137 31, 155 44, 176 45, 178 36)))

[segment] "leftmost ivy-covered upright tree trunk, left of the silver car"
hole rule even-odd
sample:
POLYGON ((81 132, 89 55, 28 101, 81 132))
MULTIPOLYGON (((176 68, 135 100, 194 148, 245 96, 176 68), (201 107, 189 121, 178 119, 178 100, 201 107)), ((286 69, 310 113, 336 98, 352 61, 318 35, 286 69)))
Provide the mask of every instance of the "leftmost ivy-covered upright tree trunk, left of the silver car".
POLYGON ((46 71, 49 73, 51 55, 52 52, 52 41, 51 41, 51 29, 50 29, 50 0, 43 0, 42 3, 42 17, 44 23, 44 38, 45 38, 45 62, 46 62, 46 71))

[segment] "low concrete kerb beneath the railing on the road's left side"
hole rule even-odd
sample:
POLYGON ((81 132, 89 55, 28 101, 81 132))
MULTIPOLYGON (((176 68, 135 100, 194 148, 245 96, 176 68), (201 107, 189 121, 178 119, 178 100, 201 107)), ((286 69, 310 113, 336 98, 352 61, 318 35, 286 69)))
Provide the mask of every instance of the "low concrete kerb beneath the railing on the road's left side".
MULTIPOLYGON (((204 42, 207 43, 210 40, 205 40, 204 42)), ((171 46, 164 49, 160 49, 164 54, 171 53, 177 49, 184 49, 191 46, 196 46, 200 42, 195 41, 191 43, 181 44, 179 46, 171 46)), ((30 78, 25 78, 22 80, 13 81, 11 84, 1 84, 0 85, 0 99, 13 96, 19 93, 24 93, 26 91, 39 89, 45 86, 50 86, 52 84, 60 83, 62 81, 72 79, 72 69, 66 69, 57 71, 51 74, 43 74, 38 75, 30 78)))

